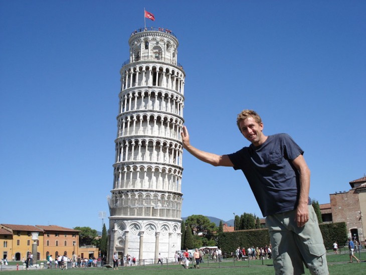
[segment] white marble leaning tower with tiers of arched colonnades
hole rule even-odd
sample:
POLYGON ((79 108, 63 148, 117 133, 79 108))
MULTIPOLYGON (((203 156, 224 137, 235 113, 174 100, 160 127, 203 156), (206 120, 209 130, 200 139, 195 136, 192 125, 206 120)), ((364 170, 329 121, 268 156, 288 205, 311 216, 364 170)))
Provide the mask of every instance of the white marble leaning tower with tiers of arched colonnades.
POLYGON ((120 70, 108 259, 172 260, 180 249, 185 72, 167 29, 139 29, 120 70))

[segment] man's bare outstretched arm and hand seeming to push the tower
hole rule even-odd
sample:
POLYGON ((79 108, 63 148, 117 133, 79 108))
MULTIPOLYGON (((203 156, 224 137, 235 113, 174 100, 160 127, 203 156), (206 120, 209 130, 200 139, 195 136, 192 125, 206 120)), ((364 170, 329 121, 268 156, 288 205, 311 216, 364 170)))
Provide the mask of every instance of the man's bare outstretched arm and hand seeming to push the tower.
POLYGON ((228 166, 228 167, 234 166, 227 155, 219 156, 219 155, 216 155, 213 153, 201 151, 201 150, 193 147, 190 144, 190 135, 188 133, 186 126, 183 126, 180 135, 181 135, 181 139, 183 142, 183 147, 188 152, 190 152, 193 156, 195 156, 197 159, 199 159, 203 162, 209 163, 213 166, 228 166))

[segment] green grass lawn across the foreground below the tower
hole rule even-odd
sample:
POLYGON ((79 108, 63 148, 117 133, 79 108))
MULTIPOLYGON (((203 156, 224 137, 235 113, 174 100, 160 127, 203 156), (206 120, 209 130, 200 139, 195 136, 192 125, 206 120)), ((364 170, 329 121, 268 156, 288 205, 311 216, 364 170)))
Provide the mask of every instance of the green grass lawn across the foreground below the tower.
MULTIPOLYGON (((327 254, 328 260, 328 268, 330 274, 364 274, 366 273, 366 252, 362 252, 361 255, 357 253, 356 256, 361 259, 360 263, 348 263, 349 255, 346 253, 342 254, 327 254)), ((150 274, 161 274, 161 275, 174 275, 174 274, 181 274, 181 272, 189 272, 189 273, 196 273, 196 274, 274 274, 274 269, 272 265, 272 260, 251 260, 249 261, 233 261, 233 260, 224 260, 220 263, 215 262, 208 262, 206 261, 203 264, 200 264, 200 269, 192 268, 192 264, 190 264, 190 268, 184 269, 181 265, 177 264, 169 264, 169 265, 160 265, 160 264, 153 264, 153 265, 145 265, 145 266, 128 266, 128 267, 119 267, 118 270, 107 269, 107 268, 70 268, 68 270, 61 270, 61 269, 38 269, 38 270, 28 270, 28 273, 35 273, 35 274, 55 274, 58 272, 63 273, 72 273, 73 275, 78 274, 106 274, 108 272, 112 273, 128 273, 134 275, 150 275, 150 274)), ((1 271, 0 275, 7 275, 13 274, 15 275, 16 271, 1 271)), ((25 272, 21 270, 21 272, 25 272)), ((310 272, 305 269, 305 274, 310 274, 310 272)))

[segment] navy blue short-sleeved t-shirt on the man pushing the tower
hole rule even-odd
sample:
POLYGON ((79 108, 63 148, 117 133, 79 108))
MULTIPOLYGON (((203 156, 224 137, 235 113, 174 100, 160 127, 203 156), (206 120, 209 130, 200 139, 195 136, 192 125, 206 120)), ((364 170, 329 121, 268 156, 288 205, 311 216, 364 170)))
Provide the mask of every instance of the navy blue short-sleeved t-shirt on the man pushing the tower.
POLYGON ((299 174, 292 161, 304 151, 286 133, 269 135, 259 147, 251 144, 228 155, 241 169, 263 217, 290 211, 299 200, 299 174))

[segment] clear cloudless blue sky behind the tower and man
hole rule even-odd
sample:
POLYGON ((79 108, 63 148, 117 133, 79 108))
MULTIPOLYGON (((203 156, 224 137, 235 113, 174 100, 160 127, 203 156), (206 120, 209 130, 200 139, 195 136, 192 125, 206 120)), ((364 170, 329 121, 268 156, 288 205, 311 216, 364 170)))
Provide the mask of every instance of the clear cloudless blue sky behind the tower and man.
MULTIPOLYGON (((365 1, 0 0, 0 223, 101 229, 119 70, 144 8, 179 40, 194 146, 248 146, 235 121, 254 109, 305 151, 319 203, 364 176, 365 1)), ((183 164, 183 217, 261 217, 240 171, 183 164)))

